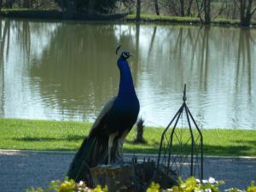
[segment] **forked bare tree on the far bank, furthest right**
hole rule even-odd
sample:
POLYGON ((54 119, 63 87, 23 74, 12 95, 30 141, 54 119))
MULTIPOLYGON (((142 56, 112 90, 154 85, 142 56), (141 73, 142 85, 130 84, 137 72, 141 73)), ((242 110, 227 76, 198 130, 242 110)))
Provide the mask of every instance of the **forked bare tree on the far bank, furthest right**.
POLYGON ((256 11, 256 5, 253 0, 235 0, 239 10, 240 10, 240 25, 250 26, 253 14, 256 11))

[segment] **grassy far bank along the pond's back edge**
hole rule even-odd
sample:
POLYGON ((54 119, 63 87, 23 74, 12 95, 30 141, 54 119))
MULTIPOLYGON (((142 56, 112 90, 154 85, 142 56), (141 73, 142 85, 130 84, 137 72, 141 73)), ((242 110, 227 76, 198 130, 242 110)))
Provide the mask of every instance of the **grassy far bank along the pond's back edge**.
MULTIPOLYGON (((26 18, 26 19, 43 19, 43 20, 111 20, 122 22, 136 22, 136 15, 113 14, 113 15, 94 15, 88 17, 86 15, 74 14, 72 19, 65 18, 65 15, 55 9, 2 9, 1 16, 6 18, 26 18)), ((201 20, 196 17, 178 17, 169 15, 141 15, 141 23, 157 23, 157 24, 184 24, 199 25, 201 20)), ((239 26, 239 20, 215 19, 212 20, 211 26, 239 26)), ((256 21, 253 20, 251 27, 256 27, 256 21)))

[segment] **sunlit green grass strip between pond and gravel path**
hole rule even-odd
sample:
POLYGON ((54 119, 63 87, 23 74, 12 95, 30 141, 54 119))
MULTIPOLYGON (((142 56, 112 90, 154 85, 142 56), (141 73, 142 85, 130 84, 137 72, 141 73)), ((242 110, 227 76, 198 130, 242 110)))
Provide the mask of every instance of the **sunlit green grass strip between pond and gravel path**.
MULTIPOLYGON (((0 119, 0 148, 26 150, 75 151, 90 131, 90 123, 0 119)), ((133 143, 136 129, 126 139, 125 153, 157 154, 160 136, 164 128, 146 127, 146 144, 133 143)), ((202 130, 204 154, 256 156, 256 131, 247 130, 202 130)), ((183 137, 188 131, 183 132, 183 137)), ((177 143, 174 141, 177 148, 177 143)), ((189 148, 189 146, 187 146, 189 148)))

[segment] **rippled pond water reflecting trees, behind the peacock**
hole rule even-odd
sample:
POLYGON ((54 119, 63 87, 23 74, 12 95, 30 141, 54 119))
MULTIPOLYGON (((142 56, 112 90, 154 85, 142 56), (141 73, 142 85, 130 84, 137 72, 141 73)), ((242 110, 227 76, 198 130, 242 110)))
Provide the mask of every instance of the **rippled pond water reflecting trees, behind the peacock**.
POLYGON ((233 27, 0 21, 0 116, 93 122, 129 61, 146 125, 187 103, 202 128, 256 129, 256 30, 233 27))

